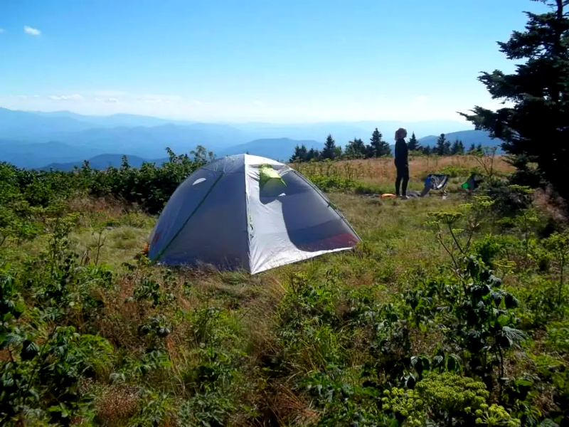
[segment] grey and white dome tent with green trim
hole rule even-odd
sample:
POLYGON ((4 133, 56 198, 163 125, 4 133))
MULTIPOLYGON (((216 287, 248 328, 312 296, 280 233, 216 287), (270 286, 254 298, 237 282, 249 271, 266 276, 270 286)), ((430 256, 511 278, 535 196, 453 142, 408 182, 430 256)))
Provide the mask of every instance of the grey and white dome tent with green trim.
POLYGON ((165 265, 205 263, 255 274, 358 241, 304 176, 272 159, 236 154, 180 184, 150 234, 148 255, 165 265))

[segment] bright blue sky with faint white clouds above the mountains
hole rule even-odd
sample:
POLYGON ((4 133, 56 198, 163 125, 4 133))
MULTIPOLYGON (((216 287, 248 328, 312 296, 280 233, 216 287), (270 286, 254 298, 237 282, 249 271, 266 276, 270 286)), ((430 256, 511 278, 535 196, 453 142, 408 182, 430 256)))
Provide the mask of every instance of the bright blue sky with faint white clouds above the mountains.
POLYGON ((457 119, 529 0, 0 2, 0 106, 212 121, 457 119))

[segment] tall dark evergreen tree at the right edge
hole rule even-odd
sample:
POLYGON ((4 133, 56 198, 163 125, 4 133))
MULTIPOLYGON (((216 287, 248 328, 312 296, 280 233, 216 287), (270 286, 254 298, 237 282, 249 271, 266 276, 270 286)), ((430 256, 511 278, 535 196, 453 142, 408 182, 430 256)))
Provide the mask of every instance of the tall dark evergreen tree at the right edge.
POLYGON ((569 199, 569 0, 541 0, 550 11, 526 12, 525 31, 514 31, 499 50, 510 60, 526 60, 511 74, 495 70, 479 81, 494 99, 511 107, 493 111, 476 106, 461 113, 477 129, 503 142, 502 149, 518 169, 517 183, 537 186, 545 179, 569 199), (528 167, 537 165, 537 174, 528 167))

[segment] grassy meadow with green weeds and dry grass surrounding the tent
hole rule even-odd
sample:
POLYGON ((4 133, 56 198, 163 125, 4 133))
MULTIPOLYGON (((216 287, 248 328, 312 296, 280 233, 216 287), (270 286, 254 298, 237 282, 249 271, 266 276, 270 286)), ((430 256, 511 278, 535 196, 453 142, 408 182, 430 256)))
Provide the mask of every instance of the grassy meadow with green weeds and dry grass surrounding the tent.
POLYGON ((33 208, 20 178, 11 223, 35 231, 0 228, 1 423, 565 425, 569 239, 543 195, 499 157, 410 159, 411 189, 451 175, 445 200, 373 196, 392 159, 291 166, 363 241, 254 276, 149 265, 157 213, 95 184, 33 208))

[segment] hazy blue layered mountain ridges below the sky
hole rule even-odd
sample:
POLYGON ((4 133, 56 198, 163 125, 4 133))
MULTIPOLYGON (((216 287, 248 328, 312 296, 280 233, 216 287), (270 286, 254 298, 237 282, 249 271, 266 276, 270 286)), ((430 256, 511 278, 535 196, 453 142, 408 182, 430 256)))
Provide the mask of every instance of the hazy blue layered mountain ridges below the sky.
POLYGON ((70 163, 82 164, 83 159, 102 154, 121 157, 127 153, 139 159, 161 159, 166 157, 166 147, 176 153, 188 153, 198 144, 218 157, 250 152, 288 160, 297 144, 321 149, 328 134, 342 147, 354 138, 367 143, 376 127, 391 144, 398 127, 405 127, 409 134, 415 132, 422 144, 435 144, 437 137, 432 135, 441 132, 447 132, 451 140, 459 135, 465 145, 471 141, 469 135, 476 135, 472 139, 476 139, 477 144, 490 141, 482 138, 481 131, 467 130, 472 126, 454 120, 207 123, 130 114, 90 116, 68 111, 28 112, 0 107, 0 161, 24 168, 43 168, 50 164, 63 167, 70 163))

